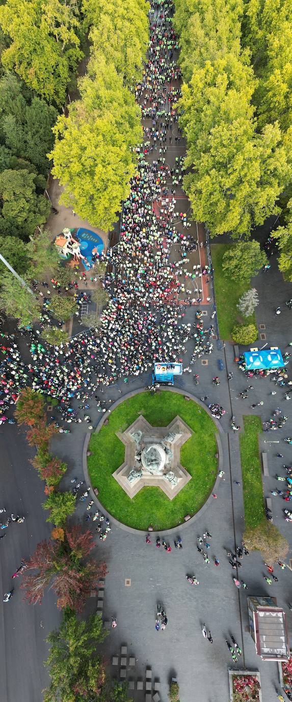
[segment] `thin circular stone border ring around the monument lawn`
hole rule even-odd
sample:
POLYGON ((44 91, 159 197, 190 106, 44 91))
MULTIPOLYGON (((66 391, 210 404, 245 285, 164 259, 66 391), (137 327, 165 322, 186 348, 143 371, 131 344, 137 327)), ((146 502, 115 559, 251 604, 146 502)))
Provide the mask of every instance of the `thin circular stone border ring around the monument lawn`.
MULTIPOLYGON (((132 392, 128 392, 127 395, 123 395, 123 397, 120 397, 118 400, 116 400, 116 402, 114 402, 111 405, 111 409, 104 412, 102 418, 100 419, 99 423, 95 427, 95 432, 97 432, 97 433, 100 432, 100 430, 102 429, 102 426, 104 425, 104 422, 106 421, 106 419, 109 418, 109 414, 111 414, 113 412, 113 410, 116 409, 116 407, 118 407, 119 404, 121 404, 122 402, 125 402, 125 400, 127 400, 127 399, 130 399, 130 397, 134 397, 134 395, 140 395, 142 392, 146 392, 144 387, 140 388, 140 390, 132 390, 132 392)), ((218 432, 220 434, 224 433, 223 428, 219 424, 218 420, 215 417, 211 416, 211 412, 209 410, 209 407, 206 407, 204 405, 204 402, 202 402, 202 400, 200 400, 200 399, 197 399, 197 397, 195 397, 195 395, 192 395, 190 392, 185 392, 184 390, 180 390, 179 388, 163 388, 163 389, 160 388, 160 392, 176 392, 179 395, 183 395, 184 397, 186 397, 186 399, 193 400, 193 402, 200 405, 202 407, 202 409, 204 409, 204 411, 207 412, 207 414, 209 414, 209 416, 211 417, 211 420, 216 425, 218 432)), ((221 478, 219 478, 218 474, 221 470, 223 470, 223 447, 222 447, 221 438, 219 436, 219 433, 215 434, 217 449, 218 449, 218 469, 217 469, 217 477, 216 477, 216 480, 215 480, 215 483, 213 486, 213 491, 218 490, 218 486, 219 486, 219 483, 221 481, 221 478)), ((113 524, 116 524, 116 527, 120 527, 120 529, 124 529, 125 531, 128 531, 130 534, 145 534, 145 535, 148 534, 148 530, 144 531, 143 529, 134 529, 133 527, 128 527, 127 524, 123 524, 123 522, 119 522, 118 519, 116 519, 116 517, 113 517, 113 515, 111 515, 110 512, 108 512, 106 510, 106 508, 104 508, 104 505, 102 505, 102 503, 99 502, 99 499, 97 498, 97 495, 95 494, 95 491, 92 488, 92 484, 90 482, 90 477, 89 477, 89 472, 88 472, 87 453, 88 453, 88 446, 89 446, 91 436, 92 436, 92 432, 89 432, 85 436, 85 442, 83 444, 83 454, 82 454, 83 473, 84 473, 84 477, 85 477, 85 482, 86 482, 87 486, 90 486, 90 489, 92 492, 90 497, 97 505, 97 508, 99 510, 102 510, 103 514, 106 515, 106 517, 108 517, 111 520, 111 522, 113 522, 113 524)), ((201 517, 203 512, 205 512, 205 510, 207 510, 207 508, 213 502, 213 500, 214 500, 214 498, 212 497, 212 494, 210 494, 209 497, 207 498, 206 502, 204 503, 204 505, 202 505, 201 509, 198 510, 198 512, 196 512, 195 515, 193 515, 193 517, 190 517, 190 519, 188 519, 187 522, 183 522, 182 524, 178 524, 176 527, 172 527, 171 529, 161 530, 161 531, 159 531, 159 534, 161 534, 162 536, 164 536, 164 535, 166 536, 167 534, 174 534, 174 531, 177 531, 178 529, 180 531, 181 531, 181 529, 186 529, 186 527, 188 527, 189 524, 193 524, 197 519, 199 519, 199 517, 201 517)), ((149 527, 150 526, 151 525, 149 524, 149 527)), ((154 532, 152 532, 152 533, 154 535, 154 532)))

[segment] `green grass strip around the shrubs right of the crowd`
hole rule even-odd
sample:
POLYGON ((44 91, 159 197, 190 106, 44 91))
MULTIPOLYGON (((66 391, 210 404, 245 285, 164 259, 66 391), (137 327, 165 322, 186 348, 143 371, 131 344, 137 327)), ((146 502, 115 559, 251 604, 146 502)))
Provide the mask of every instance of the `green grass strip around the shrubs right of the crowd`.
POLYGON ((249 285, 239 283, 232 277, 225 276, 222 270, 224 253, 236 244, 212 244, 211 258, 214 268, 214 284, 216 296, 216 310, 220 336, 226 341, 232 341, 231 332, 235 324, 256 324, 254 314, 251 317, 242 317, 237 310, 237 303, 242 293, 249 289, 249 285))

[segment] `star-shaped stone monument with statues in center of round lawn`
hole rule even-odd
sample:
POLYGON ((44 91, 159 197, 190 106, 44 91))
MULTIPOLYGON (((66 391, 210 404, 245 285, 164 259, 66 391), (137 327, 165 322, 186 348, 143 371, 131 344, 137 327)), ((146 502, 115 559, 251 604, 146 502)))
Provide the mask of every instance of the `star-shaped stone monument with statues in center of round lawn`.
POLYGON ((176 416, 167 427, 152 427, 139 416, 123 434, 125 461, 113 473, 129 497, 146 485, 158 486, 172 500, 191 479, 179 462, 181 446, 192 430, 176 416))

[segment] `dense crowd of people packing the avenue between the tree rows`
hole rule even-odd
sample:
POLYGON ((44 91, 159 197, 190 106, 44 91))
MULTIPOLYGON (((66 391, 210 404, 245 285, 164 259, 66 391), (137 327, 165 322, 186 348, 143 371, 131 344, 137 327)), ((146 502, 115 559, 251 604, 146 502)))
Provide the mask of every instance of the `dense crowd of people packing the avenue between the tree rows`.
MULTIPOLYGON (((102 385, 115 383, 118 378, 127 381, 128 376, 152 369, 155 360, 181 361, 188 340, 195 342, 192 362, 213 349, 213 326, 204 330, 199 317, 193 329, 183 322, 184 308, 176 304, 180 293, 186 295, 188 305, 200 304, 202 290, 197 288, 195 293, 195 286, 189 289, 186 284, 188 278, 197 277, 200 265, 189 270, 190 252, 198 244, 188 233, 186 213, 176 211, 175 193, 182 180, 183 158, 176 157, 170 168, 164 155, 172 139, 177 142, 181 138, 174 109, 180 95, 180 70, 174 58, 178 45, 172 11, 171 0, 151 4, 148 62, 136 88, 144 143, 138 149, 137 173, 123 207, 120 241, 106 253, 112 272, 103 282, 110 301, 102 314, 101 327, 98 332, 78 334, 59 347, 41 343, 39 329, 22 330, 32 357, 26 364, 15 337, 3 336, 0 397, 1 402, 5 401, 4 409, 15 401, 23 386, 31 385, 59 400, 64 420, 77 421, 76 411, 70 406, 72 399, 81 399, 83 409, 88 409, 84 403, 102 385), (174 222, 181 225, 182 232, 174 222)), ((209 272, 204 268, 205 275, 209 272)), ((48 285, 43 285, 44 326, 51 324, 53 317, 48 285)), ((57 293, 62 292, 55 279, 53 286, 57 293)), ((79 304, 89 299, 78 292, 78 282, 73 281, 69 288, 79 304)), ((98 395, 95 399, 102 411, 102 401, 98 395)))

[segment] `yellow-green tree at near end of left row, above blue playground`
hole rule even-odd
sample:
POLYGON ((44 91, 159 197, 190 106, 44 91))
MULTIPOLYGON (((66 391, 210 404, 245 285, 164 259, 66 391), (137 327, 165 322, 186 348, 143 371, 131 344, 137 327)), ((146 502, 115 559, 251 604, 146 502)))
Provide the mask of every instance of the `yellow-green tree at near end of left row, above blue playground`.
POLYGON ((90 61, 79 84, 81 100, 69 106, 54 128, 53 174, 61 196, 90 224, 109 230, 130 192, 141 142, 141 112, 113 64, 102 55, 90 61))

